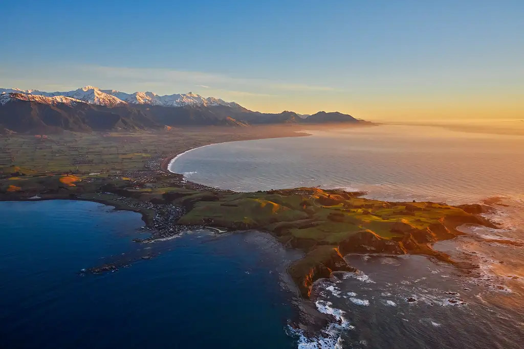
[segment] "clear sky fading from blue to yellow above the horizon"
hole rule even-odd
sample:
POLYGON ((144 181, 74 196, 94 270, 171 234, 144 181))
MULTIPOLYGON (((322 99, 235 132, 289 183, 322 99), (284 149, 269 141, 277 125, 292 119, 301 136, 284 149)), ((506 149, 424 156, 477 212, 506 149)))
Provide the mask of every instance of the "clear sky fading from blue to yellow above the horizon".
POLYGON ((524 119, 524 1, 28 0, 0 87, 193 92, 264 112, 524 119))

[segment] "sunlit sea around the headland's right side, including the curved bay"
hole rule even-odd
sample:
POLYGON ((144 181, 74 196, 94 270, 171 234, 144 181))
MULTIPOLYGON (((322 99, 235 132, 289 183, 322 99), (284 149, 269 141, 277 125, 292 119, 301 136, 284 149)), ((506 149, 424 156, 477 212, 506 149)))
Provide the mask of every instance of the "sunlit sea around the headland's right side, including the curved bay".
POLYGON ((212 145, 179 156, 170 170, 237 191, 297 186, 366 190, 386 200, 450 204, 501 197, 489 218, 501 229, 436 244, 479 265, 464 275, 420 256, 346 256, 361 275, 315 289, 318 308, 340 324, 301 348, 520 348, 524 341, 524 137, 439 127, 380 126, 313 136, 212 145), (408 301, 413 298, 415 301, 408 301))

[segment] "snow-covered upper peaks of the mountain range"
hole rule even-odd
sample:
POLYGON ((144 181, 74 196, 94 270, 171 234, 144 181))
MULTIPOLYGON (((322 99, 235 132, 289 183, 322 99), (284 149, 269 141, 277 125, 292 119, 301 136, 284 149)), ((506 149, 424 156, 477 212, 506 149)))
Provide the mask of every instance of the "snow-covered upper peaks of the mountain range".
MULTIPOLYGON (((39 103, 56 103, 65 101, 63 103, 72 103, 71 99, 75 101, 102 105, 113 107, 119 104, 150 104, 150 105, 159 105, 165 107, 183 107, 183 106, 228 106, 228 107, 239 107, 235 102, 225 102, 222 99, 208 97, 204 98, 200 95, 194 93, 187 94, 174 94, 174 95, 165 95, 159 96, 156 93, 152 92, 135 92, 135 93, 125 93, 120 91, 115 91, 114 89, 100 89, 94 86, 85 86, 74 91, 66 92, 43 92, 36 89, 21 90, 18 88, 0 88, 0 95, 3 94, 24 94, 32 97, 28 97, 26 100, 36 100, 39 103), (36 96, 47 97, 52 99, 36 98, 36 96), (69 99, 68 99, 69 98, 69 99)), ((6 97, 3 99, 4 103, 6 97)))

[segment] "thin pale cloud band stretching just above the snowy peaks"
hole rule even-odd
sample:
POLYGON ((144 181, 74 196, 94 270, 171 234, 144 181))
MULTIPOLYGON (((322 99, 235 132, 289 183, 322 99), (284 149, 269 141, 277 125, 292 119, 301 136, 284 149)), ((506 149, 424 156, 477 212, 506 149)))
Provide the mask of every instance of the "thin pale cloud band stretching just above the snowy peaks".
POLYGON ((13 86, 42 91, 68 91, 84 85, 114 88, 128 93, 154 91, 158 94, 191 91, 196 86, 205 88, 206 94, 223 93, 224 97, 275 97, 292 93, 339 91, 328 86, 147 67, 62 64, 49 65, 45 69, 24 67, 24 70, 20 70, 4 66, 0 67, 0 76, 3 80, 2 85, 7 85, 1 87, 13 86), (30 78, 21 79, 20 76, 30 78), (53 83, 50 84, 50 81, 53 83))

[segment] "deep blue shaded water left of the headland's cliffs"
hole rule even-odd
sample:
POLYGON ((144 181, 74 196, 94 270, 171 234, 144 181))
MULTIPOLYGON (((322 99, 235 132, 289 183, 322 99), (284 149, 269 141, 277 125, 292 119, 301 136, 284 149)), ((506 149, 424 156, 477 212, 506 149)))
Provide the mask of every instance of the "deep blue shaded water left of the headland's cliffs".
POLYGON ((85 201, 0 202, 0 224, 1 348, 296 347, 275 245, 195 232, 151 260, 79 276, 136 251, 140 215, 85 201))

